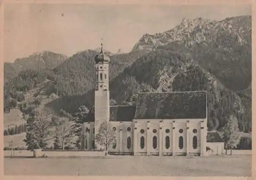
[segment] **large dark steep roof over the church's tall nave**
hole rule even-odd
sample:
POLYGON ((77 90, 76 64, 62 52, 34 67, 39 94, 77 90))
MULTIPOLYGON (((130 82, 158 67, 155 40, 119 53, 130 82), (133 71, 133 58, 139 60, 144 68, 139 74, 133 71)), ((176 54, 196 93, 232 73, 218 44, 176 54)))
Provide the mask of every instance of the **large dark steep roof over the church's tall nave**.
POLYGON ((141 93, 134 119, 205 119, 206 92, 141 93))

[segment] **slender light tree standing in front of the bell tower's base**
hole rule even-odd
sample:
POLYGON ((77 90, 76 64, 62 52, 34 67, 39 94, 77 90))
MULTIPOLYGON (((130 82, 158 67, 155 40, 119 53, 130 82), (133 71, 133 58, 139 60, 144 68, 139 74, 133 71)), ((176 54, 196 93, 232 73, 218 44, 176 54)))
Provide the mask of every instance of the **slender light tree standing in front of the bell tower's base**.
POLYGON ((105 155, 108 155, 110 147, 116 143, 115 132, 110 122, 100 124, 95 141, 97 144, 104 147, 105 155))

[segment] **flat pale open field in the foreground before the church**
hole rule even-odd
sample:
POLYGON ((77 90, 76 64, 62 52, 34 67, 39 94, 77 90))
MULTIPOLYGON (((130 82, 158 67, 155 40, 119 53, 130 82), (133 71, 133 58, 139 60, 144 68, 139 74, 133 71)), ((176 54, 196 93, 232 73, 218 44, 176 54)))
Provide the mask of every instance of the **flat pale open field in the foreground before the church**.
POLYGON ((5 158, 5 175, 251 176, 251 156, 5 158))

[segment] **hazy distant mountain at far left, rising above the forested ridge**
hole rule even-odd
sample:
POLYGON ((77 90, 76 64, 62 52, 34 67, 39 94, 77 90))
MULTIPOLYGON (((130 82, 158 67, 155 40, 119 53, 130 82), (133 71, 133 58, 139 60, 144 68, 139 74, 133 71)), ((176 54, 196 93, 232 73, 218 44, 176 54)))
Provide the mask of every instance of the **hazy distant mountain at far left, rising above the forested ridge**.
POLYGON ((37 70, 38 68, 53 69, 58 64, 65 61, 68 57, 50 51, 33 53, 25 58, 17 58, 13 63, 4 63, 4 80, 7 82, 13 79, 19 72, 28 69, 37 70))

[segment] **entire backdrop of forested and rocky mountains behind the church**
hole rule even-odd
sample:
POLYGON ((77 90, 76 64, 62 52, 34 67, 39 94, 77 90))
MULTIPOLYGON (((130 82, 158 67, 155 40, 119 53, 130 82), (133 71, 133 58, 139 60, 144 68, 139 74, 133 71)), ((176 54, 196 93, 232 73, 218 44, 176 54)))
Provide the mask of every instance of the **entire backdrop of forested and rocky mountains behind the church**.
MULTIPOLYGON (((87 50, 67 58, 45 52, 5 63, 5 110, 40 104, 34 93, 38 85, 44 86, 38 90, 44 97, 57 97, 43 103, 56 114, 61 109, 73 114, 81 105, 90 109, 97 53, 87 50)), ((118 104, 135 104, 139 92, 205 90, 209 129, 222 130, 233 115, 241 131, 251 131, 250 16, 184 19, 172 30, 145 34, 130 53, 108 54, 110 96, 118 104)))

